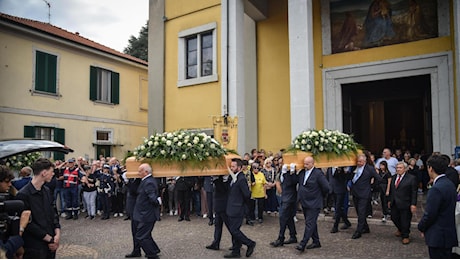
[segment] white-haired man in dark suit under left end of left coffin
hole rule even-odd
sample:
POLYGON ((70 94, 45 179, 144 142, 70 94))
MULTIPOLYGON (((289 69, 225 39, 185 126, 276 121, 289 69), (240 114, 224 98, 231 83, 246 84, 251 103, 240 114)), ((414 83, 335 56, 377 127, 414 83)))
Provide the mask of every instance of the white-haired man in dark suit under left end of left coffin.
POLYGON ((160 219, 161 198, 157 181, 152 176, 152 168, 143 163, 139 166, 141 183, 137 189, 136 204, 133 210, 133 225, 136 227, 134 239, 137 240, 147 258, 159 258, 160 248, 152 238, 155 222, 160 219))

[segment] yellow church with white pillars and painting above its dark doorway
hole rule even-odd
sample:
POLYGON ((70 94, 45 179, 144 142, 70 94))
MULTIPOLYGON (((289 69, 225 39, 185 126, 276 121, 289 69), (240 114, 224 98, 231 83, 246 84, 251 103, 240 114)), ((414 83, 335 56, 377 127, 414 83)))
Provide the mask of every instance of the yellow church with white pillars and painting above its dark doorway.
POLYGON ((456 0, 150 0, 149 132, 238 118, 238 152, 307 129, 452 154, 456 0))

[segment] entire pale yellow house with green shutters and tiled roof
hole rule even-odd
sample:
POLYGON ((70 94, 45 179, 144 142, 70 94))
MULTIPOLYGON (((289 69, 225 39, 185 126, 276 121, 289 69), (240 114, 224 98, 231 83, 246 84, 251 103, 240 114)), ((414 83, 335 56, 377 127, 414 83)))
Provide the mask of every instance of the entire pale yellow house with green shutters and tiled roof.
POLYGON ((123 158, 147 136, 147 62, 1 13, 0 46, 0 138, 55 140, 94 159, 123 158))

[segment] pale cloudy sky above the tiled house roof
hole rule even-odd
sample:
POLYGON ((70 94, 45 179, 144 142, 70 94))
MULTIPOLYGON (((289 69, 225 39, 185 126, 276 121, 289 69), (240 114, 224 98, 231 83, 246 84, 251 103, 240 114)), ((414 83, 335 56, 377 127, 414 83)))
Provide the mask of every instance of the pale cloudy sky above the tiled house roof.
POLYGON ((149 0, 0 0, 0 12, 79 32, 119 52, 147 23, 149 0))

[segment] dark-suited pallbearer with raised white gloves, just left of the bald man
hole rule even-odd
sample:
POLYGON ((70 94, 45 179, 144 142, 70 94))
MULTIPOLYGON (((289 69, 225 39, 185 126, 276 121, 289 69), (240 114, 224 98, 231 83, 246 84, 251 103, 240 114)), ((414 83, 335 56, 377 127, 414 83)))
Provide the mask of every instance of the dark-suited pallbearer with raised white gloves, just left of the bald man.
POLYGON ((276 180, 281 184, 281 214, 279 216, 280 231, 278 239, 270 243, 273 247, 297 243, 294 216, 297 205, 298 176, 296 175, 295 164, 291 165, 289 173, 287 166, 287 164, 282 166, 280 176, 276 180), (286 231, 286 227, 289 229, 288 241, 284 241, 284 232, 286 231))

